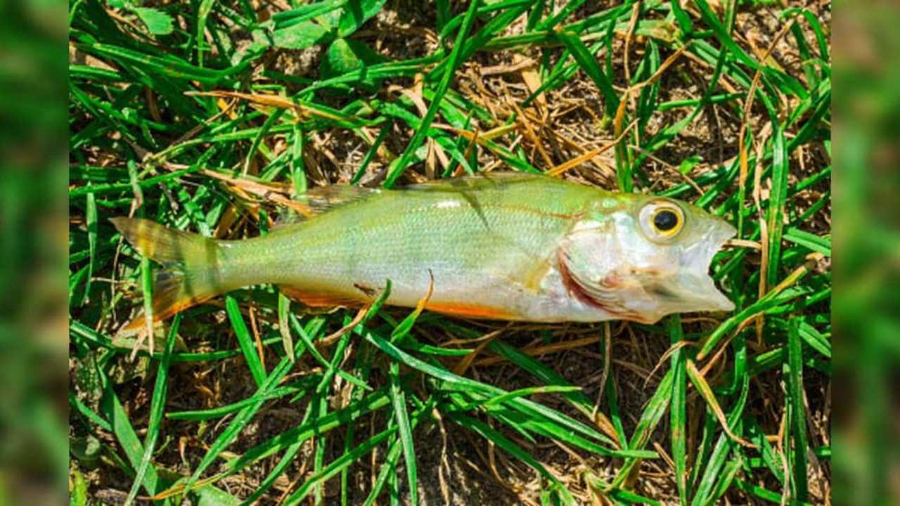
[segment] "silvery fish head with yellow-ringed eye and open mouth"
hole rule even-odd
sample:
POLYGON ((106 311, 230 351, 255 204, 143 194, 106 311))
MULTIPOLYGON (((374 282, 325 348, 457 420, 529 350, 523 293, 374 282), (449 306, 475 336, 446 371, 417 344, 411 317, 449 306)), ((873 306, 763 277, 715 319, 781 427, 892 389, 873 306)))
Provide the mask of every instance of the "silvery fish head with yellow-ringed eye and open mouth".
POLYGON ((599 203, 563 241, 569 293, 614 316, 653 323, 674 312, 732 311, 709 266, 734 237, 727 221, 653 195, 599 203))

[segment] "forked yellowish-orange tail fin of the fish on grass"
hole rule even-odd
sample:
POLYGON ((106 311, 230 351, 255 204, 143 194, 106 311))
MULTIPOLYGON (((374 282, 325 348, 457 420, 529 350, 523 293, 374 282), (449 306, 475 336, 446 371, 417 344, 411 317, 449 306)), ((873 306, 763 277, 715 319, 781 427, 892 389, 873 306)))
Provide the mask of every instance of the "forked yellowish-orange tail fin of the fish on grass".
MULTIPOLYGON (((221 283, 221 248, 215 239, 166 228, 139 218, 112 218, 131 246, 165 268, 153 280, 153 321, 161 321, 194 304, 227 292, 221 283)), ((143 314, 121 328, 134 333, 144 328, 143 314)))

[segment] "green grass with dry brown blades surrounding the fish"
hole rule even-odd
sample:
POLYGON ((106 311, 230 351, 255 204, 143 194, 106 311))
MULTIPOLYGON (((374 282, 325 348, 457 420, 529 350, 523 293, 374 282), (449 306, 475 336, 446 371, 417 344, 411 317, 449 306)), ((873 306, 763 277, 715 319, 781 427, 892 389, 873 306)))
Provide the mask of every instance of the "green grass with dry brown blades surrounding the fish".
MULTIPOLYGON (((439 465, 423 460, 421 447, 434 444, 436 432, 422 433, 438 418, 451 435, 490 442, 530 467, 505 472, 511 481, 539 483, 540 492, 521 492, 528 501, 823 500, 808 470, 813 460, 827 468, 831 448, 812 433, 810 417, 828 415, 818 387, 831 375, 832 283, 824 260, 814 265, 810 255, 831 258, 831 67, 827 27, 815 13, 765 11, 779 22, 757 43, 782 38, 764 58, 767 47, 746 43, 747 31, 760 27, 742 21, 733 2, 719 12, 705 0, 687 9, 650 1, 637 10, 634 2, 589 9, 572 0, 552 10, 531 0, 436 0, 416 6, 419 17, 403 15, 418 5, 409 2, 290 4, 284 12, 272 7, 265 19, 247 1, 70 5, 74 503, 94 503, 109 489, 126 502, 156 496, 165 504, 185 495, 222 504, 416 502, 439 465), (386 43, 379 53, 372 18, 383 9, 427 28, 437 45, 398 56, 405 53, 386 43), (630 79, 623 68, 629 32, 630 79), (278 54, 300 60, 314 47, 310 74, 277 64, 278 54), (698 203, 732 221, 740 239, 766 245, 765 258, 758 249, 726 248, 714 260, 716 280, 737 306, 732 315, 671 316, 627 331, 616 325, 622 331, 612 338, 603 325, 515 326, 481 348, 475 340, 445 344, 482 337, 481 325, 381 304, 335 334, 354 312, 306 314, 274 287, 259 286, 225 296, 224 318, 222 304, 207 304, 167 322, 152 354, 139 346, 130 360, 137 345, 115 329, 139 305, 123 295, 148 287, 152 266, 121 243, 107 218, 133 212, 206 235, 252 236, 284 212, 273 194, 302 193, 322 179, 357 183, 376 174, 380 184, 401 185, 432 168, 447 177, 493 163, 550 170, 521 113, 499 117, 496 99, 473 91, 467 77, 474 61, 499 65, 514 54, 535 59, 540 81, 506 97, 518 111, 578 84, 597 96, 597 121, 581 118, 591 140, 600 146, 622 137, 608 161, 614 174, 598 176, 591 162, 568 175, 698 203), (424 111, 389 90, 414 78, 424 111), (693 90, 688 98, 671 93, 686 89, 693 90), (213 91, 257 98, 197 93, 213 91), (259 103, 264 94, 284 100, 259 103), (691 148, 714 107, 732 140, 722 140, 721 159, 702 159, 691 148), (478 137, 504 125, 514 128, 478 137), (331 136, 339 142, 329 143, 331 136), (443 150, 446 163, 434 162, 429 145, 443 150), (356 158, 333 152, 351 146, 356 158), (353 167, 336 166, 341 156, 353 167), (605 384, 567 378, 559 355, 533 357, 521 348, 565 348, 574 339, 563 339, 569 331, 600 336, 590 347, 604 359, 570 353, 565 360, 589 360, 597 371, 607 363, 605 384), (652 356, 626 355, 629 332, 632 342, 649 343, 652 356), (506 366, 457 374, 455 366, 475 352, 475 362, 501 357, 506 366), (626 387, 623 362, 660 367, 626 387), (231 390, 204 397, 199 386, 214 384, 231 390), (266 425, 276 409, 295 416, 266 425), (561 465, 542 449, 549 440, 584 464, 561 465), (577 474, 567 471, 573 468, 577 474), (668 477, 650 479, 651 469, 668 477)), ((401 47, 416 36, 386 32, 401 47)), ((551 140, 562 127, 548 121, 540 135, 554 166, 581 155, 551 140)), ((498 486, 490 471, 481 479, 498 486)))

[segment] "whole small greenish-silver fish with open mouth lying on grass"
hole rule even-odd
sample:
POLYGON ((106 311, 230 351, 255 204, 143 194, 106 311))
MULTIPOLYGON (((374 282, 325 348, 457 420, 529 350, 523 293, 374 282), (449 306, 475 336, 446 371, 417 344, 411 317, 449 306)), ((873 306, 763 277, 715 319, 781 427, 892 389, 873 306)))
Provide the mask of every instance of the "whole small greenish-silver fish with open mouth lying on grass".
MULTIPOLYGON (((330 185, 265 236, 219 240, 112 218, 163 265, 153 320, 247 285, 310 308, 384 303, 460 318, 654 323, 732 311, 708 270, 735 229, 690 203, 517 172, 400 189, 330 185), (307 216, 303 216, 306 214, 307 216)), ((144 326, 141 315, 123 327, 144 326)))

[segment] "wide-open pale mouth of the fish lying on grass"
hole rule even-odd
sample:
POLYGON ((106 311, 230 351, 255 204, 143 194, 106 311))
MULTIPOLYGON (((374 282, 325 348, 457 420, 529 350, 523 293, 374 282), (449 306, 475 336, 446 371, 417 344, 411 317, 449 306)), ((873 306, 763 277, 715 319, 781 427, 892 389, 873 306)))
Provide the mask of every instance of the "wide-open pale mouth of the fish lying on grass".
POLYGON ((716 221, 715 225, 681 258, 679 276, 672 276, 675 286, 668 291, 675 295, 680 312, 734 311, 734 303, 719 291, 709 266, 716 252, 737 230, 726 221, 716 221))

